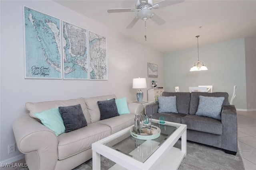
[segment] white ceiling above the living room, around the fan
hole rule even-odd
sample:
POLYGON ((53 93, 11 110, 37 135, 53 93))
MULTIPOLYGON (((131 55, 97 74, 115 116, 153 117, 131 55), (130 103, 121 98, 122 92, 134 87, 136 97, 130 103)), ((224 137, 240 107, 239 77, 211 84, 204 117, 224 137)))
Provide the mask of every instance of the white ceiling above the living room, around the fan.
MULTIPOLYGON (((153 0, 153 3, 160 0, 153 0)), ((135 8, 136 0, 56 0, 88 18, 161 53, 211 43, 256 36, 256 0, 185 0, 172 6, 152 9, 166 21, 159 26, 147 20, 126 29, 137 12, 107 13, 110 8, 135 8), (201 27, 201 28, 200 28, 201 27)))

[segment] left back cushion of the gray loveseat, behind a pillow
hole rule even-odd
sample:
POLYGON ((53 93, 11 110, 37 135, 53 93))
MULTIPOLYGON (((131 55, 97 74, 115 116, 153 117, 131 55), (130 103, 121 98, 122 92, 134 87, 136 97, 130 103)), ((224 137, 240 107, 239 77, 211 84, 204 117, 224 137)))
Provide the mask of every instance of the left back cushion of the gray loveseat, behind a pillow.
POLYGON ((162 96, 176 96, 178 113, 189 113, 190 92, 163 92, 162 96))

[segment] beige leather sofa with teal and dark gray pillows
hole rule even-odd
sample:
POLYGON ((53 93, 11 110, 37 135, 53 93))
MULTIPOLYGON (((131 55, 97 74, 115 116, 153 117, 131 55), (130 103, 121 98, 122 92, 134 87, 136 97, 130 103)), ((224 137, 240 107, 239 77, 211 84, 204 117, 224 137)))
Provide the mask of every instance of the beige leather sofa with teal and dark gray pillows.
POLYGON ((135 114, 143 113, 143 106, 128 103, 130 114, 100 121, 97 101, 116 98, 99 96, 66 101, 26 103, 29 114, 18 117, 13 124, 14 136, 20 152, 25 154, 30 170, 71 170, 92 158, 92 143, 134 124, 135 114), (80 104, 88 125, 58 137, 36 119, 34 113, 80 104))

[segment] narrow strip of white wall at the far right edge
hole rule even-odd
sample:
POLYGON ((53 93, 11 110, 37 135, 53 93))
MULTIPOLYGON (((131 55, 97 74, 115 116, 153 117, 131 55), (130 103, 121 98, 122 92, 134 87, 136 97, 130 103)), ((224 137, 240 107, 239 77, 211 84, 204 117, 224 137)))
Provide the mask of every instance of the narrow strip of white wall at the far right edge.
POLYGON ((246 99, 247 109, 256 109, 256 37, 246 37, 245 62, 246 62, 246 99))

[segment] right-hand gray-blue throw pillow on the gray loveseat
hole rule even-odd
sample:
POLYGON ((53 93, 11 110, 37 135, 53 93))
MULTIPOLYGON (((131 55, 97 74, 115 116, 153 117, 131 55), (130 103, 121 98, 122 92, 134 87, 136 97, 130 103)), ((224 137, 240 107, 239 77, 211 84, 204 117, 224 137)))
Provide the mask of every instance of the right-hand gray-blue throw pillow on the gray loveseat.
POLYGON ((198 116, 212 117, 221 120, 221 109, 224 97, 199 96, 199 105, 196 112, 198 116))

